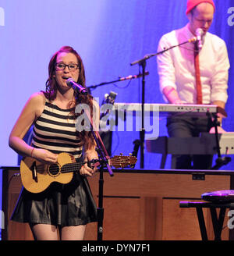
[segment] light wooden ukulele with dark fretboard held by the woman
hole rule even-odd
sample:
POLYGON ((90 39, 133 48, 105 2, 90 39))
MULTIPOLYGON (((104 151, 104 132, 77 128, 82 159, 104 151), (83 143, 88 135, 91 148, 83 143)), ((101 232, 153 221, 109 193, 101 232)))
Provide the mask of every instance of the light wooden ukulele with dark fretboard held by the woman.
MULTIPOLYGON (((123 168, 128 165, 134 165, 137 158, 134 156, 115 155, 108 159, 108 165, 123 168)), ((47 165, 26 157, 20 162, 20 176, 23 187, 31 193, 40 193, 44 191, 53 182, 62 184, 69 183, 73 179, 73 172, 79 172, 84 164, 90 162, 76 162, 73 155, 68 153, 58 154, 58 162, 47 165)))

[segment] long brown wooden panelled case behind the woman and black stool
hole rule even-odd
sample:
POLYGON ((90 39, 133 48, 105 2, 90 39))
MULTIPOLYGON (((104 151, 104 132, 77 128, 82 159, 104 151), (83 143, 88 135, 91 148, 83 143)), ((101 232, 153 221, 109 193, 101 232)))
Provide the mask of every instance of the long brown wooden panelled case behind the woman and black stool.
MULTIPOLYGON (((21 189, 19 167, 3 166, 2 240, 33 240, 27 224, 9 220, 21 189), (13 176, 13 177, 12 177, 13 176), (9 183, 10 180, 10 183, 9 183), (6 214, 7 213, 7 214, 6 214)), ((113 169, 104 172, 103 240, 201 240, 195 208, 180 208, 179 201, 202 201, 201 194, 234 189, 234 171, 113 169)), ((99 173, 89 178, 98 202, 99 173)), ((211 216, 204 209, 209 240, 214 239, 211 216)), ((227 217, 224 226, 227 224, 227 217)), ((229 229, 222 240, 232 240, 229 229)), ((87 225, 85 240, 97 240, 97 223, 87 225)))

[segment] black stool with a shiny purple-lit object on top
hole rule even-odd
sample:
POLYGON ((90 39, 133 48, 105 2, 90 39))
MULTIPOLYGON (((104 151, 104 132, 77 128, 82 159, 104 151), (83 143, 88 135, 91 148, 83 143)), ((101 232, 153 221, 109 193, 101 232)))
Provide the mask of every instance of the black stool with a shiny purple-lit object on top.
POLYGON ((203 208, 209 208, 211 220, 215 233, 215 240, 222 240, 222 226, 225 219, 227 208, 234 208, 234 190, 218 190, 207 192, 201 195, 206 202, 180 201, 180 208, 196 208, 197 218, 200 226, 200 235, 202 240, 208 240, 207 229, 204 222, 203 208), (220 208, 219 215, 217 208, 220 208))

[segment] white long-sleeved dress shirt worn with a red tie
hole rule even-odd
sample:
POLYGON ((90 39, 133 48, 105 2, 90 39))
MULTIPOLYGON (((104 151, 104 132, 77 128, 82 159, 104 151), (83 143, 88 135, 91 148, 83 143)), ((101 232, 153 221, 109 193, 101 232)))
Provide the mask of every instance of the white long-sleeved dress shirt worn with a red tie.
MULTIPOLYGON (((158 52, 188 41, 192 37, 188 24, 182 29, 173 30, 161 37, 158 52)), ((197 103, 193 49, 194 43, 188 43, 158 55, 161 92, 165 87, 174 87, 181 101, 188 104, 197 103)), ((230 64, 225 41, 207 32, 199 53, 199 60, 202 103, 226 102, 230 64)))

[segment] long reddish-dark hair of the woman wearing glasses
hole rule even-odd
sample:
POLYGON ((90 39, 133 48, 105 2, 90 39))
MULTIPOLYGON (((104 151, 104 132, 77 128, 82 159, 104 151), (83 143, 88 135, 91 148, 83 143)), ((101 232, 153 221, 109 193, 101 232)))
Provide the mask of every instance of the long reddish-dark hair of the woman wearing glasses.
MULTIPOLYGON (((76 55, 79 69, 80 69, 79 77, 76 82, 87 89, 87 87, 85 85, 85 72, 84 72, 83 62, 82 62, 82 59, 80 58, 80 55, 72 47, 63 46, 62 48, 60 48, 58 50, 58 52, 55 52, 55 54, 51 57, 51 60, 48 65, 48 80, 46 81, 46 84, 45 84, 45 86, 46 86, 45 91, 42 91, 44 93, 45 98, 47 98, 48 101, 53 101, 57 95, 58 84, 57 84, 57 81, 55 80, 55 76, 54 76, 55 75, 55 63, 56 63, 58 54, 61 52, 73 53, 74 55, 76 55)), ((74 103, 75 103, 75 105, 78 105, 80 103, 85 103, 85 104, 89 105, 90 115, 92 116, 93 97, 90 94, 83 95, 83 94, 76 94, 76 92, 74 92, 74 95, 76 98, 76 102, 71 101, 70 105, 74 106, 74 103)), ((73 110, 71 113, 73 115, 75 115, 77 117, 80 116, 75 113, 75 108, 72 108, 72 109, 73 110)), ((91 148, 92 146, 94 146, 94 138, 93 138, 93 135, 91 132, 85 131, 85 130, 83 130, 81 132, 77 132, 77 137, 80 139, 81 144, 85 144, 87 148, 91 148)))

